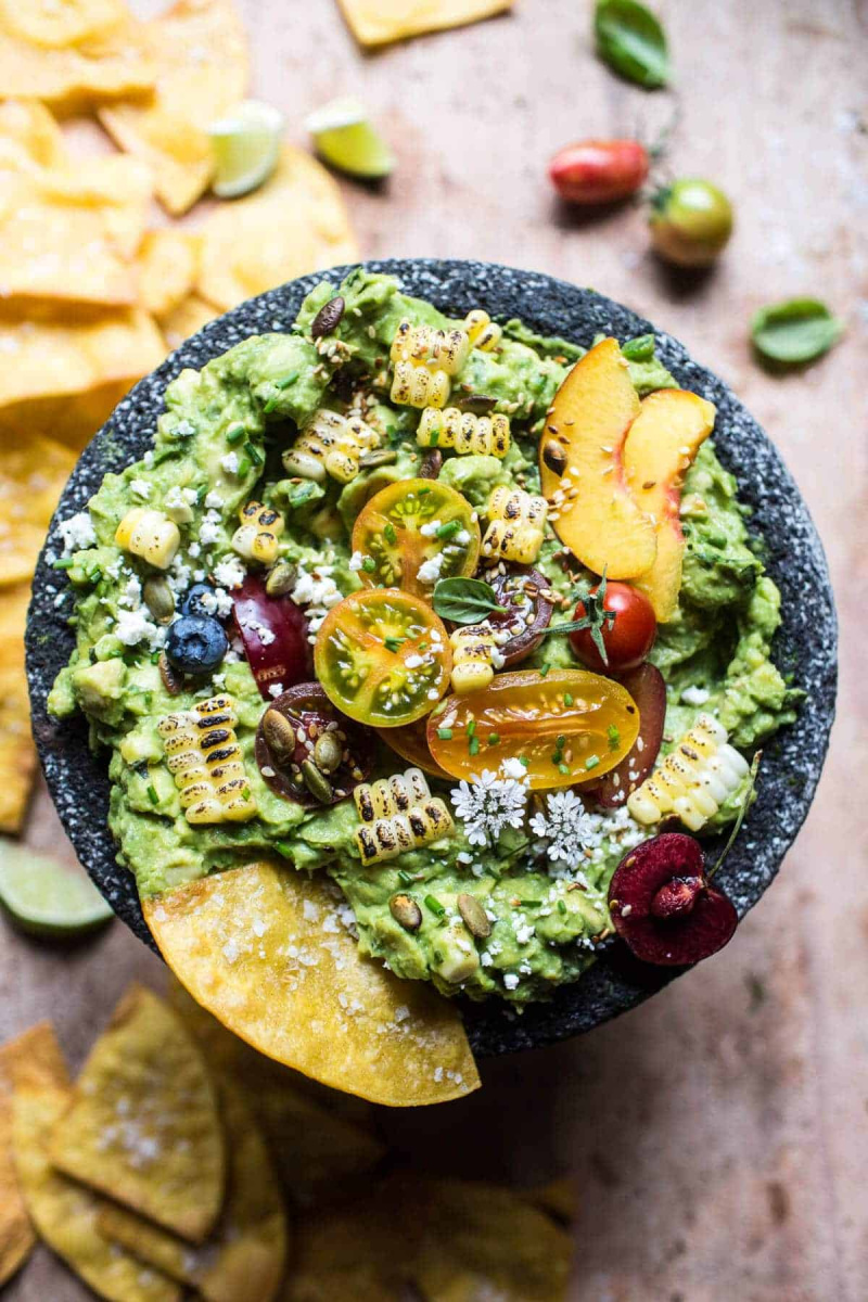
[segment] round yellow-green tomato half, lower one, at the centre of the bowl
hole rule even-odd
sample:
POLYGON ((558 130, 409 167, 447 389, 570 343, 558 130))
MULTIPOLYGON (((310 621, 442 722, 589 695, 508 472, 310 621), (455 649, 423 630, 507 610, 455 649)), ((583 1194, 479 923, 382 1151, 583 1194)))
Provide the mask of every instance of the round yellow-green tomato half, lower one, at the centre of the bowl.
POLYGON ((332 607, 316 635, 314 664, 345 715, 397 728, 437 704, 449 686, 452 651, 429 605, 398 589, 375 587, 332 607))

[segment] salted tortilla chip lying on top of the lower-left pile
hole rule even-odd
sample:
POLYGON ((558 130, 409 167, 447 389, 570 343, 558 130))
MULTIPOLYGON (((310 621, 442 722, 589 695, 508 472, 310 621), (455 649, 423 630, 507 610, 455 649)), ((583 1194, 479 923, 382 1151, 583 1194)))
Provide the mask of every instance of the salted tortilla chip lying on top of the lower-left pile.
POLYGON ((51 1160, 183 1238, 212 1229, 225 1174, 215 1091, 181 1019, 142 986, 94 1046, 51 1160))

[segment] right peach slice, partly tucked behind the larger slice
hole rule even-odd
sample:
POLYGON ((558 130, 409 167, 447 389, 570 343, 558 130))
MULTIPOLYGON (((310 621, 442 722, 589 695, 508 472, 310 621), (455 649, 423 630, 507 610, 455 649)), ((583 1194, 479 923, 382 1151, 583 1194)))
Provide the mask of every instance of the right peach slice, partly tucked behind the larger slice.
POLYGON ((696 393, 658 389, 642 402, 625 444, 623 467, 634 500, 657 522, 657 556, 636 587, 648 596, 661 624, 675 613, 681 589, 681 486, 714 427, 716 414, 714 405, 696 393))

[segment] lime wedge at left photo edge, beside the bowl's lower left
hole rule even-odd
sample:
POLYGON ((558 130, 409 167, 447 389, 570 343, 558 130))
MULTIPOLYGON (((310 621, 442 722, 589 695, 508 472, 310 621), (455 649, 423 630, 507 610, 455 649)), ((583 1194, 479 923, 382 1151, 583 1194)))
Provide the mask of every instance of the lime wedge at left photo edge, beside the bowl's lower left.
POLYGON ((113 917, 78 866, 0 842, 0 902, 33 936, 81 936, 113 917))

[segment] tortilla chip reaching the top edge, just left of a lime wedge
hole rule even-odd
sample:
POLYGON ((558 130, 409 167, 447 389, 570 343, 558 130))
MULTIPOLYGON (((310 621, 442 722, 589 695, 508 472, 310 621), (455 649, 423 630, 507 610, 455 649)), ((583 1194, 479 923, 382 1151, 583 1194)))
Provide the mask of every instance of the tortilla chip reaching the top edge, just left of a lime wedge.
POLYGON ((232 0, 177 0, 146 23, 146 42, 157 69, 154 95, 99 116, 122 150, 151 164, 156 193, 177 216, 211 184, 207 128, 245 96, 247 42, 232 0))

